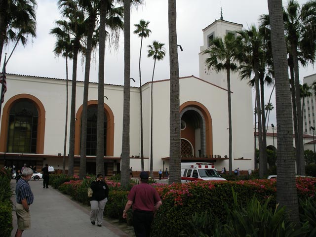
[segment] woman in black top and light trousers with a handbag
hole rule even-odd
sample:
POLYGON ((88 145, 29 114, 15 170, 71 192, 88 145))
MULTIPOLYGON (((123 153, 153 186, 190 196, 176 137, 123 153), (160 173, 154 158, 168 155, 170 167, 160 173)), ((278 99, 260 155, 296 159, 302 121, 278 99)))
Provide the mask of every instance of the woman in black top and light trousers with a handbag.
POLYGON ((96 222, 97 226, 101 227, 104 207, 109 197, 109 187, 104 182, 103 175, 98 174, 97 179, 92 181, 90 188, 93 191, 92 197, 90 197, 90 221, 92 225, 95 225, 96 222))

